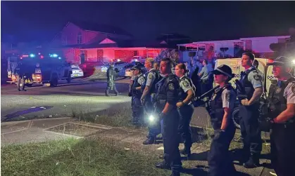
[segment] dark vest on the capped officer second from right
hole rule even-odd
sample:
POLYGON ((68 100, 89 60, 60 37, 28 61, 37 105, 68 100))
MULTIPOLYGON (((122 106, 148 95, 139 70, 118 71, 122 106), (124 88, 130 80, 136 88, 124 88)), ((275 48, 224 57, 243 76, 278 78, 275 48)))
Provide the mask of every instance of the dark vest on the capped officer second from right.
POLYGON ((210 117, 213 129, 220 129, 223 116, 225 111, 222 107, 222 92, 223 90, 232 90, 232 86, 226 85, 222 88, 215 90, 215 93, 212 95, 212 99, 210 100, 209 104, 211 107, 210 117))

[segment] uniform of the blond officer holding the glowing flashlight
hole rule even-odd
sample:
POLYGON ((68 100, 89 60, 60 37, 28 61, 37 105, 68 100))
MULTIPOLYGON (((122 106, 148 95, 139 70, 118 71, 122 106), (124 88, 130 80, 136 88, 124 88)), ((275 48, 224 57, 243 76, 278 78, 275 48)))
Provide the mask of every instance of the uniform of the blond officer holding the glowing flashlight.
MULTIPOLYGON (((142 91, 146 86, 150 86, 151 89, 146 95, 144 100, 144 109, 146 111, 146 116, 153 113, 153 99, 152 97, 156 94, 156 83, 159 80, 159 74, 156 69, 150 69, 149 73, 146 74, 145 83, 142 85, 142 91)), ((153 144, 156 140, 156 136, 161 133, 161 123, 149 123, 149 134, 148 139, 144 141, 143 144, 153 144)))

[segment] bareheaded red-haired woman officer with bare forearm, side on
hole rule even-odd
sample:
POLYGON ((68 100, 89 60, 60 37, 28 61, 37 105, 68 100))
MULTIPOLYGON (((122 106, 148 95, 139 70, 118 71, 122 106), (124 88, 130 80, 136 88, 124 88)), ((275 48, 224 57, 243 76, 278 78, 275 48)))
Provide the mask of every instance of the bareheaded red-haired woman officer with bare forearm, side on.
POLYGON ((175 67, 175 74, 180 78, 180 102, 177 102, 178 111, 180 113, 180 125, 178 126, 178 133, 184 140, 184 149, 180 151, 181 154, 190 156, 192 147, 192 132, 189 123, 192 120, 194 113, 194 106, 191 103, 194 98, 196 88, 185 74, 188 72, 184 64, 178 64, 175 67))

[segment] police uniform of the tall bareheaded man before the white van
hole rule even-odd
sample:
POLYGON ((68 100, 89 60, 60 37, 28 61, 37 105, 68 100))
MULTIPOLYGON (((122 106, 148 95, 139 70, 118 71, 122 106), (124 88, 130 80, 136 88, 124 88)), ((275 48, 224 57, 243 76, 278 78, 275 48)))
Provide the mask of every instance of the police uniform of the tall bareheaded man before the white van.
MULTIPOLYGON (((240 82, 245 89, 248 100, 251 99, 255 88, 263 88, 262 75, 259 74, 255 67, 250 67, 245 72, 242 72, 240 82)), ((238 95, 241 95, 239 91, 238 95)), ((259 155, 261 154, 262 148, 261 130, 259 129, 258 123, 259 107, 259 101, 254 102, 250 106, 239 106, 244 154, 246 159, 250 156, 249 161, 244 164, 245 167, 253 167, 253 164, 259 163, 259 155)))

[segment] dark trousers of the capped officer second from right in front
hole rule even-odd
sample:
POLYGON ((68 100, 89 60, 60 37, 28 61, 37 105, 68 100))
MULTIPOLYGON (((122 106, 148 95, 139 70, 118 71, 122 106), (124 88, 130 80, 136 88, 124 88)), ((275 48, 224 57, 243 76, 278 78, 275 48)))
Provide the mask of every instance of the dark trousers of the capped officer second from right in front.
POLYGON ((230 157, 230 142, 234 138, 236 128, 231 122, 225 132, 218 133, 214 131, 214 137, 211 142, 208 153, 208 166, 210 176, 235 176, 235 168, 230 157))

